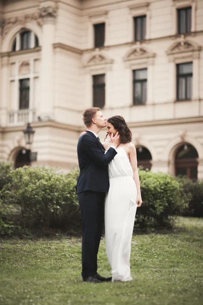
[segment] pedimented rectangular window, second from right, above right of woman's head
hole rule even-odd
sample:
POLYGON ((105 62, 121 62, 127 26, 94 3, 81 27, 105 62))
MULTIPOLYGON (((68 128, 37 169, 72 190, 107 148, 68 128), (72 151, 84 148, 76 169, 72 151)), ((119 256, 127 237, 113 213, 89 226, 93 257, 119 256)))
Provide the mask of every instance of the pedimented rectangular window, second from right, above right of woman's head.
POLYGON ((147 69, 133 70, 133 105, 147 101, 147 69))

